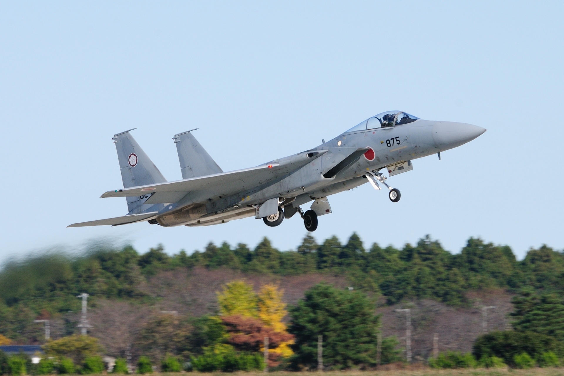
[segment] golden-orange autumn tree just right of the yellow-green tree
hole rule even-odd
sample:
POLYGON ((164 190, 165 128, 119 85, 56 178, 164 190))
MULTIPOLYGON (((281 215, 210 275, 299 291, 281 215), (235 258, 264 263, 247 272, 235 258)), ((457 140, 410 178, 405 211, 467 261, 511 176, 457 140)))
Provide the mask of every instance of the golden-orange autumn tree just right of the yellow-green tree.
MULTIPOLYGON (((282 301, 284 297, 284 290, 280 290, 276 285, 263 285, 258 294, 258 318, 261 319, 263 324, 274 329, 279 333, 286 331, 286 324, 282 322, 284 316, 288 314, 286 311, 286 303, 282 301)), ((283 342, 276 348, 271 348, 268 351, 280 354, 281 356, 288 357, 293 354, 289 345, 293 341, 283 342)))

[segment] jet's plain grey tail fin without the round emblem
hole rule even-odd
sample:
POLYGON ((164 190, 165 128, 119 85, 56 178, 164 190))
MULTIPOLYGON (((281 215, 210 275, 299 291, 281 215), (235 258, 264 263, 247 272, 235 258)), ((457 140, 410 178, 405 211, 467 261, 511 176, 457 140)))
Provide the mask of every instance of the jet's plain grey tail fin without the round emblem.
POLYGON ((179 133, 173 137, 174 143, 177 145, 182 179, 197 178, 198 176, 223 172, 210 157, 210 154, 202 148, 202 145, 190 133, 196 129, 179 133))

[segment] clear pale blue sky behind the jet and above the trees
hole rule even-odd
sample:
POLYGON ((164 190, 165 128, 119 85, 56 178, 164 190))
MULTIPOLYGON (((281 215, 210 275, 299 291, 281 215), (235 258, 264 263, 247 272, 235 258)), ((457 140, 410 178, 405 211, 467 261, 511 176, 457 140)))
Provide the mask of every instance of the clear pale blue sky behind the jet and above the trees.
MULTIPOLYGON (((175 133, 224 171, 318 145, 385 110, 488 131, 389 179, 330 196, 318 241, 356 231, 564 247, 562 2, 2 2, 0 260, 103 238, 168 253, 209 241, 293 249, 299 217, 202 228, 65 228, 126 214, 112 135, 180 179, 175 133)), ((308 205, 309 206, 309 205, 308 205)))

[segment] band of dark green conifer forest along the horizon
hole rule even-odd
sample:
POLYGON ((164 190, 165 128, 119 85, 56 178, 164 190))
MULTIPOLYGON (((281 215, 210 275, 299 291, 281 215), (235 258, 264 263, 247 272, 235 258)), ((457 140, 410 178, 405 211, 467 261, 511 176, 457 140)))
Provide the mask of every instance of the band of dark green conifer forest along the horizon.
MULTIPOLYGON (((396 249, 376 243, 365 247, 356 233, 344 244, 335 236, 318 243, 308 235, 290 251, 277 250, 267 238, 254 249, 245 244, 210 243, 190 255, 185 251, 169 255, 162 246, 144 254, 131 246, 97 246, 79 256, 46 253, 6 263, 0 271, 0 334, 16 341, 41 342, 41 328, 35 325, 31 330, 29 322, 77 312, 76 295, 85 291, 94 300, 153 304, 155 298, 139 286, 161 271, 190 272, 195 267, 230 268, 246 275, 340 275, 355 289, 384 297, 387 304, 434 299, 464 306, 470 304, 465 297, 468 291, 491 288, 518 293, 528 287, 551 299, 564 297, 564 255, 545 245, 529 250, 521 261, 510 247, 477 238, 470 238, 460 254, 452 254, 429 236, 396 249)), ((74 329, 76 323, 69 322, 68 334, 74 329)))

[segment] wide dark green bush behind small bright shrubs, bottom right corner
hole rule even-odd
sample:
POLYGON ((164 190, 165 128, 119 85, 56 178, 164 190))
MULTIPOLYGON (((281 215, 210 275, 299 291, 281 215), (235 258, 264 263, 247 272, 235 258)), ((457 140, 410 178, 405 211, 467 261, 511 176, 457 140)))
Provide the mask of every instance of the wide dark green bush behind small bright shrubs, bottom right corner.
POLYGON ((472 353, 476 359, 497 356, 505 364, 515 367, 514 356, 526 352, 538 359, 543 352, 552 351, 557 357, 564 356, 564 343, 548 335, 526 331, 492 331, 481 335, 474 342, 472 353))

